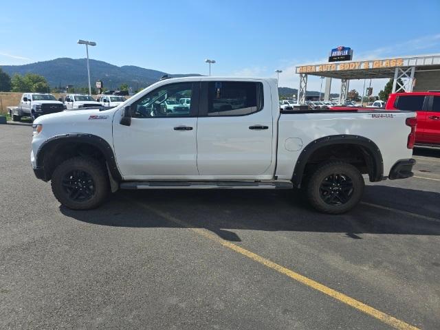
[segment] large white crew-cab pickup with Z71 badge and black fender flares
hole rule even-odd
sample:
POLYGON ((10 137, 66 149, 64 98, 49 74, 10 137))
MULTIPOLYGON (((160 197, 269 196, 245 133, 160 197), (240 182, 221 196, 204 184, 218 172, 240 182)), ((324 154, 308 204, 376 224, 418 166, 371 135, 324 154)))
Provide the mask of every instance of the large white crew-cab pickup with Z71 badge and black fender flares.
POLYGON ((346 212, 370 181, 412 176, 415 113, 283 111, 272 78, 160 80, 113 109, 34 122, 34 173, 72 209, 122 189, 303 188, 346 212), (169 112, 166 100, 190 99, 169 112))

